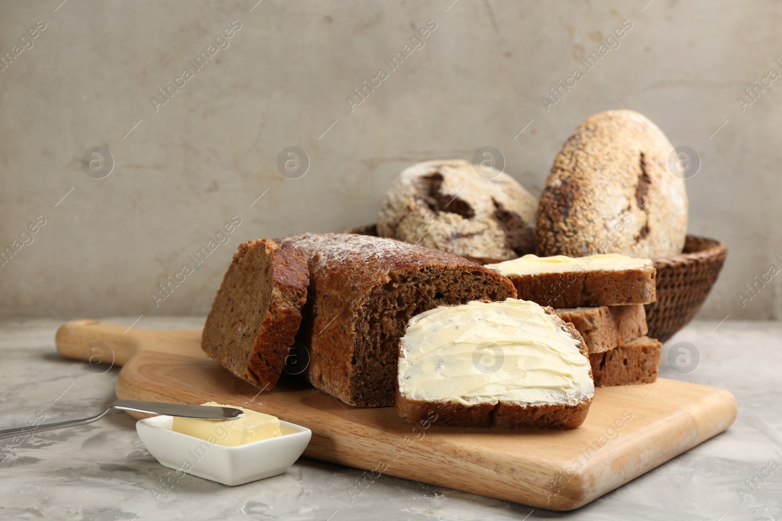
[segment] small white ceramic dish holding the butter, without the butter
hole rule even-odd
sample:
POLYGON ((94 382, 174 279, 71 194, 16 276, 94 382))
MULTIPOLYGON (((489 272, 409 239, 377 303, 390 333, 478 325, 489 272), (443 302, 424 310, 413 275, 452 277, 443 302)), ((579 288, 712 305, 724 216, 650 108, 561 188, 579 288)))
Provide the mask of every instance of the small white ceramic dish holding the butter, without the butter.
POLYGON ((161 465, 206 480, 230 485, 277 476, 299 459, 312 431, 280 420, 278 437, 224 447, 171 430, 172 416, 153 416, 136 422, 136 432, 161 465))

